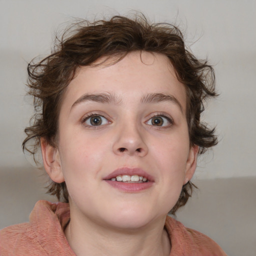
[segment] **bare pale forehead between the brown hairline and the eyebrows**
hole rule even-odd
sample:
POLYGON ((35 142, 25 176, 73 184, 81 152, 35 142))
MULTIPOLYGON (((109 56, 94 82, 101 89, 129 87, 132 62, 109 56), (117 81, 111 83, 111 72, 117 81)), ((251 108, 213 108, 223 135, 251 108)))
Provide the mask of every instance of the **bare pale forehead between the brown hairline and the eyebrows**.
POLYGON ((70 106, 86 93, 111 93, 122 103, 148 93, 173 95, 185 111, 186 93, 169 59, 158 53, 135 51, 121 60, 100 58, 91 66, 79 67, 64 93, 62 104, 70 106))

